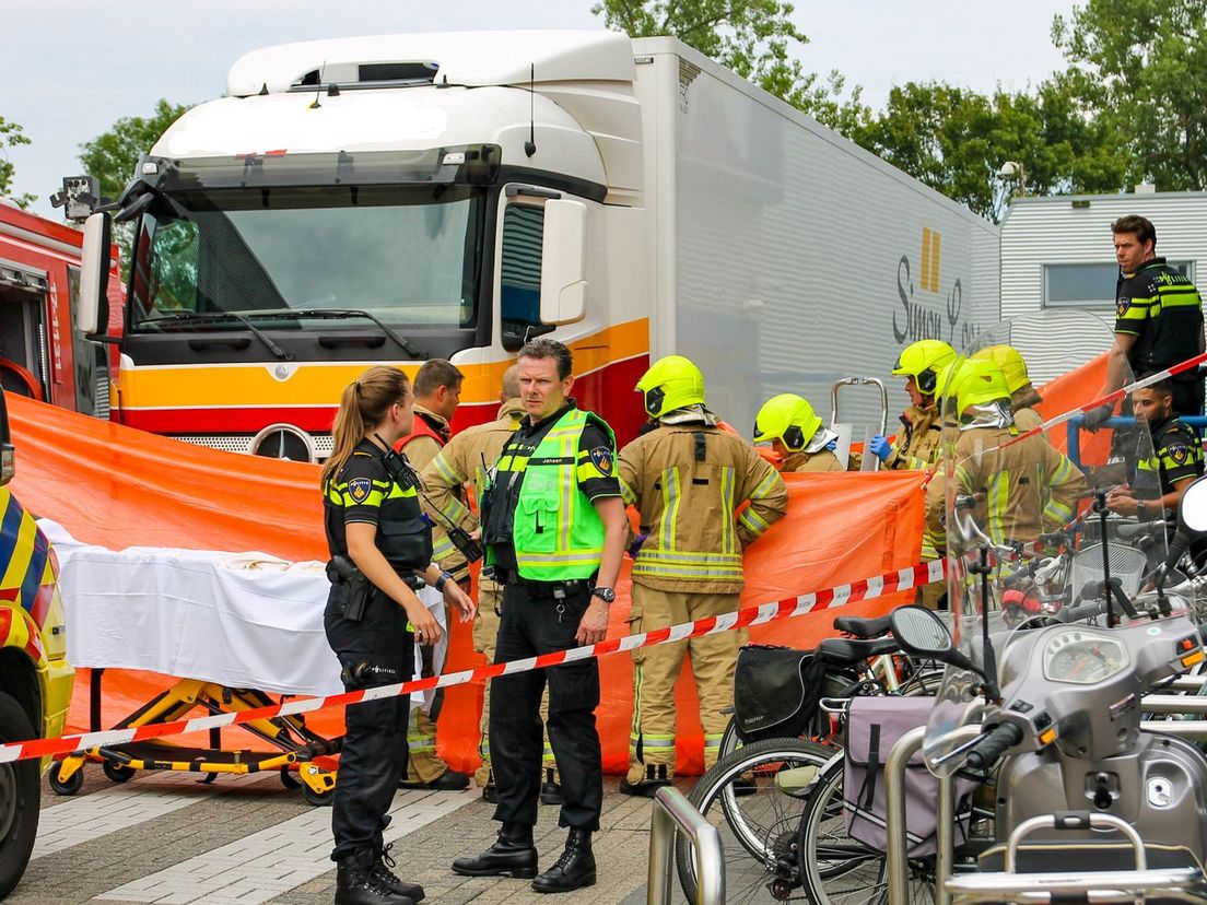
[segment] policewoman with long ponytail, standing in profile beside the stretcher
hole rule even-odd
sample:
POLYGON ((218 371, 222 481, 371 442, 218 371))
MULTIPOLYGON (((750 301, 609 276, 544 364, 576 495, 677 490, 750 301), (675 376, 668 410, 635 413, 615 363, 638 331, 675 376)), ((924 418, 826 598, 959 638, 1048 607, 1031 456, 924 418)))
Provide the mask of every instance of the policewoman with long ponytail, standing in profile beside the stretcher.
MULTIPOLYGON (((432 565, 432 538, 416 495, 418 477, 391 448, 410 433, 407 375, 369 368, 344 389, 334 450, 322 469, 328 566, 333 585, 323 623, 348 690, 408 681, 414 642, 431 644, 441 626, 415 596, 419 576, 473 617, 473 602, 432 565)), ((384 845, 407 749, 408 697, 348 707, 332 831, 336 905, 412 905, 421 887, 391 871, 384 845)))

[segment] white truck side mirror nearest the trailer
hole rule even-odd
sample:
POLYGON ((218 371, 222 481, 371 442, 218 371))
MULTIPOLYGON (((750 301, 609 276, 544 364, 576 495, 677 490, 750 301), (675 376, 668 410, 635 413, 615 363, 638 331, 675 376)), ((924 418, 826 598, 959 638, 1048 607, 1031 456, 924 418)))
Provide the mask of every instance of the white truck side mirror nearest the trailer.
POLYGON ((541 322, 576 323, 587 315, 587 205, 550 198, 541 241, 541 322))

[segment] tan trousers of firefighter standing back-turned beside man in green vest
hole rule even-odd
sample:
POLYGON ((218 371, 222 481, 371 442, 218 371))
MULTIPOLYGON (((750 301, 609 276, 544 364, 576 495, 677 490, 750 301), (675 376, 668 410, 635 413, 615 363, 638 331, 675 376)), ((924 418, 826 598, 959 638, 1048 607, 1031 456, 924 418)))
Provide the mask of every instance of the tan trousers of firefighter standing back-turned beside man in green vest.
MULTIPOLYGON (((661 591, 634 582, 629 632, 636 635, 733 613, 739 600, 737 594, 661 591)), ((667 778, 675 775, 675 683, 688 655, 700 699, 705 769, 717 763, 721 736, 729 723, 729 714, 723 711, 734 705, 734 667, 741 641, 741 632, 724 631, 632 652, 630 783, 647 778, 648 765, 665 765, 667 778)))

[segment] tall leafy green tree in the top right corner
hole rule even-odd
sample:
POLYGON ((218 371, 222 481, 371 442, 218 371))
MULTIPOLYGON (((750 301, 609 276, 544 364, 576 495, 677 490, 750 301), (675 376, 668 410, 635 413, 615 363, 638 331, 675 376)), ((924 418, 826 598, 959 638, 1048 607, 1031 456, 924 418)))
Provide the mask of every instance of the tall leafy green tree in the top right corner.
POLYGON ((1129 182, 1207 188, 1207 0, 1089 0, 1055 18, 1053 40, 1131 152, 1129 182))

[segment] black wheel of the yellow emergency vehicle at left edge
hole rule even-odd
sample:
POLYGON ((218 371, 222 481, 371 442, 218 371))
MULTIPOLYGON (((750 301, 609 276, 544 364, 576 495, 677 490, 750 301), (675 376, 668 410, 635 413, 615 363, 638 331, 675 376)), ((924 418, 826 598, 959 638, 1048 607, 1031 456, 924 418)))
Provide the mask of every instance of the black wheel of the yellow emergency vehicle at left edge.
MULTIPOLYGON (((34 728, 21 705, 0 693, 0 742, 34 737, 34 728)), ((39 761, 0 764, 0 899, 12 892, 29 864, 40 804, 39 761)))

